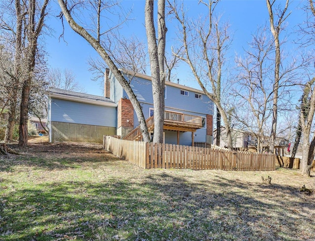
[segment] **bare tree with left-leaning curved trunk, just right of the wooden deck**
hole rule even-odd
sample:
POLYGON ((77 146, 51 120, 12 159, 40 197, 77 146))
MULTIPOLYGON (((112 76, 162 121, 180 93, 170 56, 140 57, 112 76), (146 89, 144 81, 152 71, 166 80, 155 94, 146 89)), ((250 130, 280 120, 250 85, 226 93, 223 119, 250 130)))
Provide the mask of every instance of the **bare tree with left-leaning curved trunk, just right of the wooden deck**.
POLYGON ((208 9, 209 14, 205 20, 189 21, 183 5, 179 8, 176 1, 170 3, 171 11, 180 25, 180 41, 183 44, 183 52, 178 54, 173 51, 173 54, 189 65, 205 95, 216 104, 217 139, 220 140, 222 118, 226 129, 227 145, 231 149, 233 144, 228 117, 230 106, 224 106, 221 99, 224 54, 230 43, 228 24, 220 25, 219 18, 215 18, 214 10, 220 1, 199 2, 208 9), (210 87, 212 93, 208 90, 208 87, 210 87))

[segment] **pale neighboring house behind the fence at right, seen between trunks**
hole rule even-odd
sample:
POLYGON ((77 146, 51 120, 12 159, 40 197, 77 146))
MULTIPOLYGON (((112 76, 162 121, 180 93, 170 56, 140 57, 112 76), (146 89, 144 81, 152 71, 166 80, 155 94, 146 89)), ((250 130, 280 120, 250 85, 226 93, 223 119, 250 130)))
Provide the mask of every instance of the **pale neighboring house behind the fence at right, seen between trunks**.
MULTIPOLYGON (((217 129, 214 130, 213 135, 214 143, 217 142, 217 129)), ((263 148, 264 150, 268 150, 269 148, 269 137, 264 137, 263 141, 263 148)), ((255 134, 249 131, 232 129, 232 144, 233 148, 239 150, 245 149, 257 149, 257 137, 255 134)), ((285 138, 276 138, 275 141, 275 153, 284 155, 284 150, 288 147, 288 140, 285 138)), ((221 138, 220 138, 220 146, 226 147, 227 146, 227 139, 226 139, 226 130, 224 126, 221 126, 221 138)))

